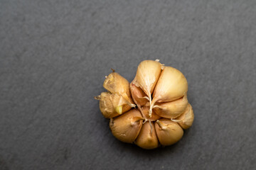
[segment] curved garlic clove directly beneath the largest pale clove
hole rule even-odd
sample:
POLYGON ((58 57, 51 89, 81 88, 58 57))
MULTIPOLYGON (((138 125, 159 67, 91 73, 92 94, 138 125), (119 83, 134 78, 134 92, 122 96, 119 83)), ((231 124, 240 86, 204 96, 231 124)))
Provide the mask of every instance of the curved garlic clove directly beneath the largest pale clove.
POLYGON ((184 113, 187 106, 188 98, 185 95, 175 101, 156 103, 154 105, 153 111, 155 111, 157 115, 160 115, 163 118, 177 118, 179 115, 184 113))

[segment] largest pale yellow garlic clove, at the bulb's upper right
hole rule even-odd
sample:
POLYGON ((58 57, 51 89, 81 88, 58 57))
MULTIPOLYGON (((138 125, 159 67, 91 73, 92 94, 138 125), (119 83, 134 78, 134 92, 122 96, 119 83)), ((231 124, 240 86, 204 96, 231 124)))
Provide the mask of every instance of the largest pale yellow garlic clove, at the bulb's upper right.
POLYGON ((174 101, 188 91, 186 77, 174 67, 164 67, 153 93, 154 102, 174 101))

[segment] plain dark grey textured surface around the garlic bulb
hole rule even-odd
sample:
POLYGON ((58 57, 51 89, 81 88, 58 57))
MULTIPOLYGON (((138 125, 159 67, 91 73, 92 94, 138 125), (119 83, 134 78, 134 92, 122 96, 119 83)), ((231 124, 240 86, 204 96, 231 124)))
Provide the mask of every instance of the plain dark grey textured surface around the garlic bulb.
POLYGON ((0 1, 0 169, 255 169, 256 1, 0 1), (98 101, 159 59, 195 120, 154 150, 116 140, 98 101))

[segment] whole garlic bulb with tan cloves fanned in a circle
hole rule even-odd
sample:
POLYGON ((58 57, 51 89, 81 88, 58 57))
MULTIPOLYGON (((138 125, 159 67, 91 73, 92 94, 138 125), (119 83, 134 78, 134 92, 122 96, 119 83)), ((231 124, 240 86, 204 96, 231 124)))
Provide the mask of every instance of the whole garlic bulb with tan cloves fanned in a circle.
POLYGON ((193 123, 186 78, 159 60, 142 61, 130 84, 113 70, 103 86, 107 92, 95 99, 102 115, 110 118, 112 134, 122 142, 143 149, 173 145, 193 123))

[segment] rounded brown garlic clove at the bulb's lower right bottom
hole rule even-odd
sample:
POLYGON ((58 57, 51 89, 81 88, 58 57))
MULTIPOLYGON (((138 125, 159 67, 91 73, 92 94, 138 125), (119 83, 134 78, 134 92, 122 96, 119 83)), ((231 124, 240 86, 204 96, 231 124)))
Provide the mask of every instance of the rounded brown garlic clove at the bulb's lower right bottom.
POLYGON ((173 145, 178 142, 178 140, 181 140, 181 137, 183 136, 181 126, 169 119, 162 118, 156 120, 154 125, 156 128, 156 135, 161 145, 173 145))

